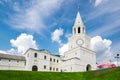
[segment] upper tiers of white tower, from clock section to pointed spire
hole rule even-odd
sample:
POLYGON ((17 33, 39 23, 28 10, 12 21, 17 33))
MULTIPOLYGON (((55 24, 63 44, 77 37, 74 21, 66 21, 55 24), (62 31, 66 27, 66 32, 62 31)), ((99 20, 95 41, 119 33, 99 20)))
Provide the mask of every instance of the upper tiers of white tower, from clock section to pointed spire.
POLYGON ((69 50, 77 46, 90 49, 90 38, 86 35, 86 29, 78 10, 75 23, 72 30, 72 36, 69 38, 69 50))

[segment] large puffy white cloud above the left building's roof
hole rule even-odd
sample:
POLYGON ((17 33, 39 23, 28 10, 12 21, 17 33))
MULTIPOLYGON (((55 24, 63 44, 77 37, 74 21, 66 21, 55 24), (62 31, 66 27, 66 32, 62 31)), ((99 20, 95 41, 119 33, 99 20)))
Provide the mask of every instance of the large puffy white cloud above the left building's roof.
POLYGON ((37 49, 36 41, 33 39, 33 36, 26 33, 22 33, 16 39, 11 39, 10 43, 14 48, 9 50, 9 52, 14 52, 17 49, 18 53, 23 54, 29 48, 37 49))

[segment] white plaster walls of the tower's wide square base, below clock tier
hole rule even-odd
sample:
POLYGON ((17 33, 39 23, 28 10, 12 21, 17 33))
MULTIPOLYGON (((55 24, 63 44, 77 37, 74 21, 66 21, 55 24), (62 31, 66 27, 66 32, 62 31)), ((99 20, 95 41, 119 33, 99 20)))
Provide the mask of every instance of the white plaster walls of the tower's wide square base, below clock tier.
POLYGON ((83 48, 83 47, 76 47, 64 53, 63 60, 68 60, 63 62, 62 68, 64 71, 71 72, 71 67, 73 72, 78 71, 86 71, 86 66, 88 64, 91 65, 92 70, 96 69, 96 54, 95 52, 83 48), (78 58, 68 60, 70 58, 78 58), (80 60, 79 60, 80 59, 80 60))

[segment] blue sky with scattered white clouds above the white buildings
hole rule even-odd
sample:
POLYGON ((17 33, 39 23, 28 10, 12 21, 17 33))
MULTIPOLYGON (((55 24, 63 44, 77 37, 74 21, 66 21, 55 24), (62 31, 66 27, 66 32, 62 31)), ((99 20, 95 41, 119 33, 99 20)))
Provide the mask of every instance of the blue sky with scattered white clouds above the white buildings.
POLYGON ((79 6, 98 61, 115 61, 119 5, 119 0, 0 0, 0 52, 21 55, 30 47, 63 52, 79 6))

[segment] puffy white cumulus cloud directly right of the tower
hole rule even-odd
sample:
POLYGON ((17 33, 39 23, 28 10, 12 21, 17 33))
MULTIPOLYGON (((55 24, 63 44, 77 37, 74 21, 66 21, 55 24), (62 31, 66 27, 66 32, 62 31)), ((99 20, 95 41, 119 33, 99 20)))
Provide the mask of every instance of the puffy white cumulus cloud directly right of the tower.
POLYGON ((110 60, 112 41, 108 39, 102 39, 100 36, 95 36, 91 39, 91 49, 96 52, 97 61, 110 60))

